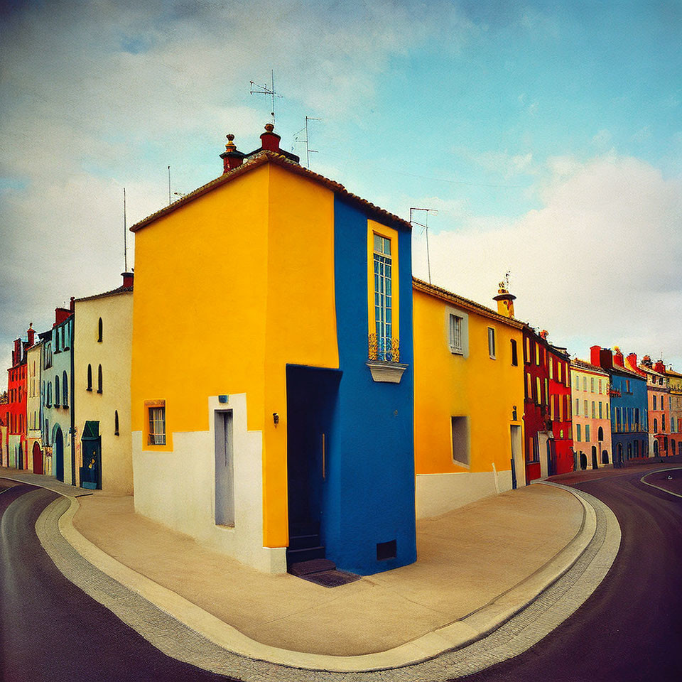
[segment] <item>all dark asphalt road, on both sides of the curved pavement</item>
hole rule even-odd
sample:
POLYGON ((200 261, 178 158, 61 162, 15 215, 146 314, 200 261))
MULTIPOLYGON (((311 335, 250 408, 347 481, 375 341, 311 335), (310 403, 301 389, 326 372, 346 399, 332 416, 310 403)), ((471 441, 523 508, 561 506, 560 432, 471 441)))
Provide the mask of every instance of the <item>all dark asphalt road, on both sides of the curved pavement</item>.
MULTIPOLYGON (((682 680, 682 497, 639 482, 671 465, 556 477, 611 507, 622 529, 618 556, 560 627, 467 682, 682 680)), ((678 489, 682 469, 671 475, 671 481, 667 474, 648 480, 678 489)), ((56 495, 4 485, 0 480, 0 681, 229 679, 162 654, 66 580, 34 529, 56 495)))

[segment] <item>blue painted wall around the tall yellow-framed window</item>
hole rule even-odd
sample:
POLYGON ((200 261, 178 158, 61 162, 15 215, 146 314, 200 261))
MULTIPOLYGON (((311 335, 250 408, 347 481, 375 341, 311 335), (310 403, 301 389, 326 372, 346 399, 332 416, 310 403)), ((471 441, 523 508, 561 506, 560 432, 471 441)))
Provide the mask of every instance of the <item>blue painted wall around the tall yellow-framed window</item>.
POLYGON ((322 536, 339 568, 368 575, 416 561, 411 234, 399 232, 400 384, 367 362, 367 216, 335 197, 335 283, 342 377, 328 450, 322 536), (396 558, 377 561, 377 543, 396 558))

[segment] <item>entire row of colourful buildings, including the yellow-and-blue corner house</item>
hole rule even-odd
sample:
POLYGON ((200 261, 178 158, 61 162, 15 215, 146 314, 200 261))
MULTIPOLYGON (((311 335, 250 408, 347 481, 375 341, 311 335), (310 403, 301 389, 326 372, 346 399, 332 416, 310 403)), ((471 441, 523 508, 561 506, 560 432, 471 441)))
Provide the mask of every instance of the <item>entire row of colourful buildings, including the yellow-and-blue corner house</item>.
POLYGON ((682 375, 651 368, 651 408, 636 357, 571 360, 504 283, 495 310, 413 278, 411 224, 279 140, 228 136, 220 177, 131 227, 134 290, 124 274, 15 343, 4 463, 134 489, 259 570, 367 575, 415 561, 416 519, 666 451, 682 375))

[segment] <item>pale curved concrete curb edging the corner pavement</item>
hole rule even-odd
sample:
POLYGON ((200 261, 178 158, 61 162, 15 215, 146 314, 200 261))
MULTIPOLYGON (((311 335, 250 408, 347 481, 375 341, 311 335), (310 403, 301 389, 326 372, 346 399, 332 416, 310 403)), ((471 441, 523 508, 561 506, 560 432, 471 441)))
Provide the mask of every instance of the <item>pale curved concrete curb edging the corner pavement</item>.
MULTIPOLYGON (((582 494, 578 494, 575 490, 558 485, 556 483, 545 482, 542 485, 553 485, 567 490, 573 494, 583 504, 583 524, 575 535, 572 541, 559 551, 550 561, 538 569, 534 574, 530 575, 526 580, 523 580, 519 585, 516 585, 511 590, 499 595, 489 604, 470 613, 466 617, 450 623, 444 627, 440 627, 433 632, 414 639, 412 642, 407 642, 401 646, 396 646, 394 649, 381 651, 374 654, 364 654, 361 656, 327 656, 323 654, 307 654, 298 651, 288 651, 286 649, 278 649, 274 646, 261 644, 253 639, 245 636, 239 630, 231 625, 222 622, 215 616, 202 610, 197 605, 186 600, 184 597, 175 594, 167 588, 154 583, 153 580, 146 578, 146 576, 137 573, 128 568, 126 565, 120 563, 116 559, 104 553, 92 542, 82 536, 73 526, 72 519, 78 509, 77 499, 69 497, 70 502, 65 508, 65 500, 56 500, 43 511, 38 523, 36 523, 36 531, 40 537, 40 541, 45 546, 48 553, 50 549, 48 541, 43 542, 45 534, 49 533, 47 528, 48 517, 55 519, 55 512, 58 513, 58 531, 70 547, 73 548, 82 558, 85 559, 92 566, 101 570, 102 573, 112 578, 114 581, 123 585, 136 595, 143 597, 144 600, 154 605, 161 612, 171 616, 176 621, 184 624, 193 632, 216 644, 221 649, 243 656, 251 661, 264 661, 276 666, 283 666, 288 669, 306 669, 308 671, 332 671, 337 673, 359 673, 371 671, 382 671, 386 669, 404 668, 406 666, 415 666, 421 664, 423 661, 434 659, 445 651, 458 651, 469 646, 472 643, 479 642, 490 633, 496 631, 503 624, 509 622, 519 612, 532 605, 533 602, 551 587, 554 583, 562 578, 578 559, 585 553, 585 550, 590 546, 595 538, 595 531, 597 528, 597 515, 595 507, 586 500, 582 494), (53 507, 58 506, 63 511, 58 511, 53 507), (45 518, 43 518, 43 516, 45 518), (42 535, 42 536, 41 536, 42 535)), ((53 522, 54 523, 54 522, 53 522)), ((60 561, 59 557, 52 554, 50 556, 58 565, 60 570, 65 573, 63 567, 65 562, 60 561)), ((610 564, 609 564, 610 565, 610 564)), ((65 573, 66 575, 66 573, 65 573)), ((97 590, 89 591, 88 584, 85 586, 79 584, 78 575, 67 575, 72 582, 84 589, 91 596, 102 602, 97 594, 97 590)), ((81 580, 81 583, 87 583, 87 580, 81 580)), ((92 580, 90 581, 92 583, 92 580)), ((102 602, 104 603, 104 602, 102 602)), ((130 615, 126 613, 126 608, 120 600, 114 600, 112 604, 105 604, 110 610, 114 611, 116 615, 124 622, 134 627, 130 622, 130 615)), ((144 637, 149 639, 153 644, 158 646, 157 642, 153 640, 153 633, 142 633, 144 637)), ((162 650, 165 647, 159 646, 162 650)), ((166 651, 176 658, 178 652, 166 651)), ((195 665, 213 669, 212 666, 206 666, 205 663, 190 660, 195 665)), ((214 669, 215 670, 215 669, 214 669)), ((217 671, 217 670, 215 670, 217 671)))

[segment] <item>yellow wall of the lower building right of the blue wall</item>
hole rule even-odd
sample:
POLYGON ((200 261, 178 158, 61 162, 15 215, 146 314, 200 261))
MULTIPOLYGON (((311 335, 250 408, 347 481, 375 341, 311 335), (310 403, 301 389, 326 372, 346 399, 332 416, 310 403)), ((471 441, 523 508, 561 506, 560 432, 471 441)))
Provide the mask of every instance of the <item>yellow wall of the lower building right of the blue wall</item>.
MULTIPOLYGON (((414 454, 417 474, 511 469, 511 425, 523 439, 524 368, 520 329, 461 308, 468 315, 468 357, 450 352, 447 309, 454 303, 413 291, 414 454), (496 330, 496 355, 488 354, 487 328, 496 330), (518 365, 511 364, 516 340, 518 365), (516 421, 511 419, 516 405, 516 421), (470 416, 470 467, 453 461, 450 418, 470 416)), ((517 478, 523 480, 522 472, 517 478)))

